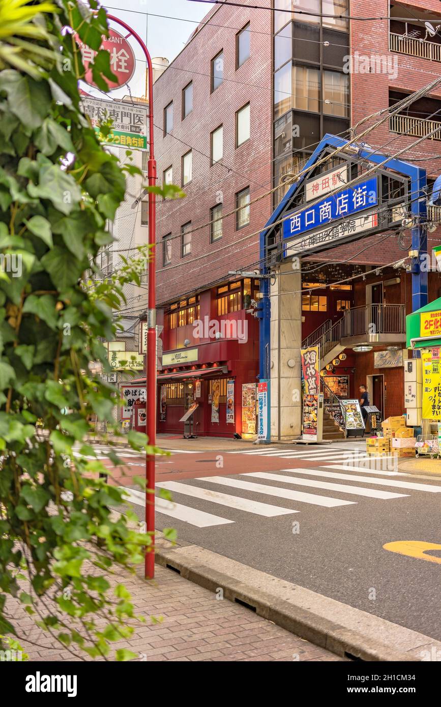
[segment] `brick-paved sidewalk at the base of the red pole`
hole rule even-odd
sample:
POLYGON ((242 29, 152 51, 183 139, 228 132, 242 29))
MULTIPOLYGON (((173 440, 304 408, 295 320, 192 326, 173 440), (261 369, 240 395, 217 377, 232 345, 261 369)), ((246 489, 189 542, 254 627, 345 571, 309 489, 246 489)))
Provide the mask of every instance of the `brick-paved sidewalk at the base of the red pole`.
MULTIPOLYGON (((112 648, 129 648, 139 653, 140 661, 343 660, 240 604, 216 599, 212 592, 161 566, 156 566, 151 582, 138 575, 118 579, 131 592, 136 613, 145 616, 146 623, 139 624, 128 641, 113 643, 112 648), (163 621, 153 624, 152 615, 163 621)), ((18 634, 40 644, 20 641, 29 660, 81 660, 33 626, 18 602, 8 598, 7 607, 16 615, 18 634)))

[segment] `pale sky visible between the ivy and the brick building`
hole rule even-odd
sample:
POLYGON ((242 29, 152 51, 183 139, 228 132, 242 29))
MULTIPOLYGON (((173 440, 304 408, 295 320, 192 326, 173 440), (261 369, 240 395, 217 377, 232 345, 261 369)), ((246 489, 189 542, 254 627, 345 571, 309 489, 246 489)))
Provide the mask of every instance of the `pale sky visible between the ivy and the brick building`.
MULTIPOLYGON (((107 9, 108 14, 127 22, 146 41, 152 58, 165 57, 170 62, 184 48, 197 24, 213 7, 211 3, 189 0, 109 0, 109 4, 102 0, 102 5, 107 9), (158 17, 158 15, 167 17, 158 17), (170 17, 182 19, 170 19, 170 17)), ((124 33, 124 29, 118 28, 114 23, 110 22, 110 26, 124 33)), ((133 96, 139 96, 145 94, 145 64, 143 52, 137 42, 131 41, 131 46, 134 47, 137 66, 134 77, 130 81, 130 88, 133 96)), ((97 98, 98 96, 103 98, 102 93, 93 88, 89 86, 84 88, 88 93, 95 94, 97 98)), ((112 91, 110 97, 117 99, 126 94, 127 88, 124 87, 112 91)))

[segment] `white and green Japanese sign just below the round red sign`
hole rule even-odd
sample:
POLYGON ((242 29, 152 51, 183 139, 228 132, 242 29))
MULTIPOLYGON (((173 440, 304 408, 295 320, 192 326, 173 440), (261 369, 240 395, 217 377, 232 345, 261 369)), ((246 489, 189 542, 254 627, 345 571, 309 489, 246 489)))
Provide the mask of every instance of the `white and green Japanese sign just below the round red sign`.
POLYGON ((147 149, 146 108, 100 98, 82 98, 81 104, 97 134, 100 134, 102 122, 112 120, 112 130, 107 140, 110 144, 147 149))

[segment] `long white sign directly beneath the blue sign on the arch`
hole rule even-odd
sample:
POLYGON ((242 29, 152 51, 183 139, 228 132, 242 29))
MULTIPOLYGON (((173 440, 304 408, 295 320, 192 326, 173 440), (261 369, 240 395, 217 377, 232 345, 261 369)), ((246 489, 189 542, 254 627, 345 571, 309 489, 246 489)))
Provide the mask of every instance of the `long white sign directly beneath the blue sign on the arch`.
POLYGON ((377 228, 378 214, 367 214, 367 216, 355 216, 347 221, 341 221, 335 226, 330 226, 324 230, 314 231, 310 235, 300 236, 288 243, 285 250, 285 257, 299 253, 305 255, 310 250, 316 251, 318 248, 332 247, 334 243, 341 240, 352 240, 352 236, 363 233, 370 228, 377 228))

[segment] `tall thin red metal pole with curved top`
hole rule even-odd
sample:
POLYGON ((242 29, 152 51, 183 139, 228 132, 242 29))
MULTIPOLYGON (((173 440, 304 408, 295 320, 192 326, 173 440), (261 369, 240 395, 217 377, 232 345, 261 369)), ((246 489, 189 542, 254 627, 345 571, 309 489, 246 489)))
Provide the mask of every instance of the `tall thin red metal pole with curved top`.
MULTIPOLYGON (((148 71, 148 117, 150 158, 147 165, 148 186, 156 183, 156 160, 153 150, 153 66, 151 56, 141 37, 127 23, 113 15, 107 19, 126 29, 142 48, 148 71)), ((148 443, 156 443, 156 297, 155 297, 155 243, 156 243, 156 195, 148 194, 148 312, 147 312, 147 361, 146 361, 146 434, 148 443)), ((146 530, 151 532, 152 544, 155 542, 155 457, 146 456, 146 530)), ((155 552, 146 553, 144 576, 152 579, 155 575, 155 552)))

